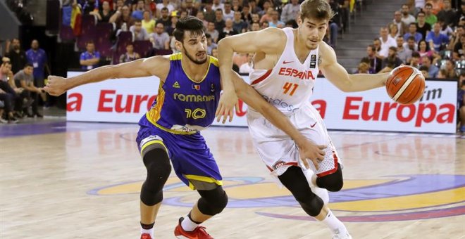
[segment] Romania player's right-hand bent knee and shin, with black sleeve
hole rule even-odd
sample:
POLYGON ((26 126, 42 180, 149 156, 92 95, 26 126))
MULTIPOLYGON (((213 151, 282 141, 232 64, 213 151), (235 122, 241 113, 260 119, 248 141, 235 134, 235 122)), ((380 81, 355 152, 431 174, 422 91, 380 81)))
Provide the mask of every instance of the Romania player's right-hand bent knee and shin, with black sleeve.
MULTIPOLYGON (((211 185, 213 186, 213 184, 211 185)), ((228 204, 228 195, 222 186, 214 185, 211 190, 197 190, 201 196, 199 201, 194 205, 190 216, 193 221, 199 223, 206 221, 214 215, 223 211, 228 204)))

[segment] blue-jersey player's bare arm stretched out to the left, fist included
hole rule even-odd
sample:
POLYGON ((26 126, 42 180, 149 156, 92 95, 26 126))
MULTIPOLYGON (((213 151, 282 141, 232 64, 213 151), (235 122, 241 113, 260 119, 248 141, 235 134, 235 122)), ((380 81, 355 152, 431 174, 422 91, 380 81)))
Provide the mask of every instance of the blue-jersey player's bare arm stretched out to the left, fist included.
POLYGON ((118 65, 105 65, 89 70, 76 77, 63 78, 49 76, 44 90, 51 96, 59 96, 69 89, 82 84, 101 82, 106 79, 149 77, 154 75, 164 81, 168 75, 170 62, 168 56, 153 56, 118 65))

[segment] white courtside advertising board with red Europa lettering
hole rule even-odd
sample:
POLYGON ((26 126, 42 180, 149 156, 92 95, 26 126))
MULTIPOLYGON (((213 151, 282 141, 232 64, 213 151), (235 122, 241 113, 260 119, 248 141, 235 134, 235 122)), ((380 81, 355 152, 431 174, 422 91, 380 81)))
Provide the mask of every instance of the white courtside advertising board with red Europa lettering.
MULTIPOLYGON (((68 77, 81 72, 68 72, 68 77)), ((248 77, 244 77, 248 81, 248 77)), ((111 79, 68 91, 67 120, 136 123, 156 98, 159 79, 111 79)), ((421 101, 414 105, 393 102, 384 88, 345 93, 324 78, 317 78, 311 103, 328 129, 455 133, 457 82, 426 81, 421 101)), ((247 105, 240 102, 233 122, 247 127, 247 105)), ((214 122, 213 125, 223 125, 214 122)))

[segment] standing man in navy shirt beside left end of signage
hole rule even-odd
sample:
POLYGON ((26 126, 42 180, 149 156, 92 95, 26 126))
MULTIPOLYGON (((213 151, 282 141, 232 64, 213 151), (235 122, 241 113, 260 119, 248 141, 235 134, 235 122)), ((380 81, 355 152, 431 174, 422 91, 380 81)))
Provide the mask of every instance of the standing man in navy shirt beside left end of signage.
POLYGON ((34 85, 44 87, 44 79, 46 77, 45 70, 50 75, 49 65, 47 64, 46 53, 43 49, 39 49, 39 41, 32 40, 31 49, 26 51, 27 62, 34 67, 34 85))

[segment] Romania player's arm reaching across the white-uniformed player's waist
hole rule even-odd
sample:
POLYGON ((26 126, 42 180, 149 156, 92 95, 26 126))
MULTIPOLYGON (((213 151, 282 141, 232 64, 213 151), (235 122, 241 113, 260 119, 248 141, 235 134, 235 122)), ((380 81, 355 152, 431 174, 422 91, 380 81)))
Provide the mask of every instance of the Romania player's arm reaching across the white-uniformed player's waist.
POLYGON ((326 146, 317 146, 315 143, 309 141, 308 138, 300 134, 300 132, 294 127, 289 118, 287 118, 283 112, 280 112, 270 103, 266 102, 258 92, 256 92, 252 86, 245 83, 237 73, 231 70, 233 77, 233 83, 237 96, 244 101, 249 107, 254 108, 263 117, 266 118, 275 127, 284 131, 289 135, 299 148, 299 153, 304 167, 309 168, 309 162, 311 160, 316 169, 318 169, 318 160, 323 160, 325 156, 324 149, 326 146))

